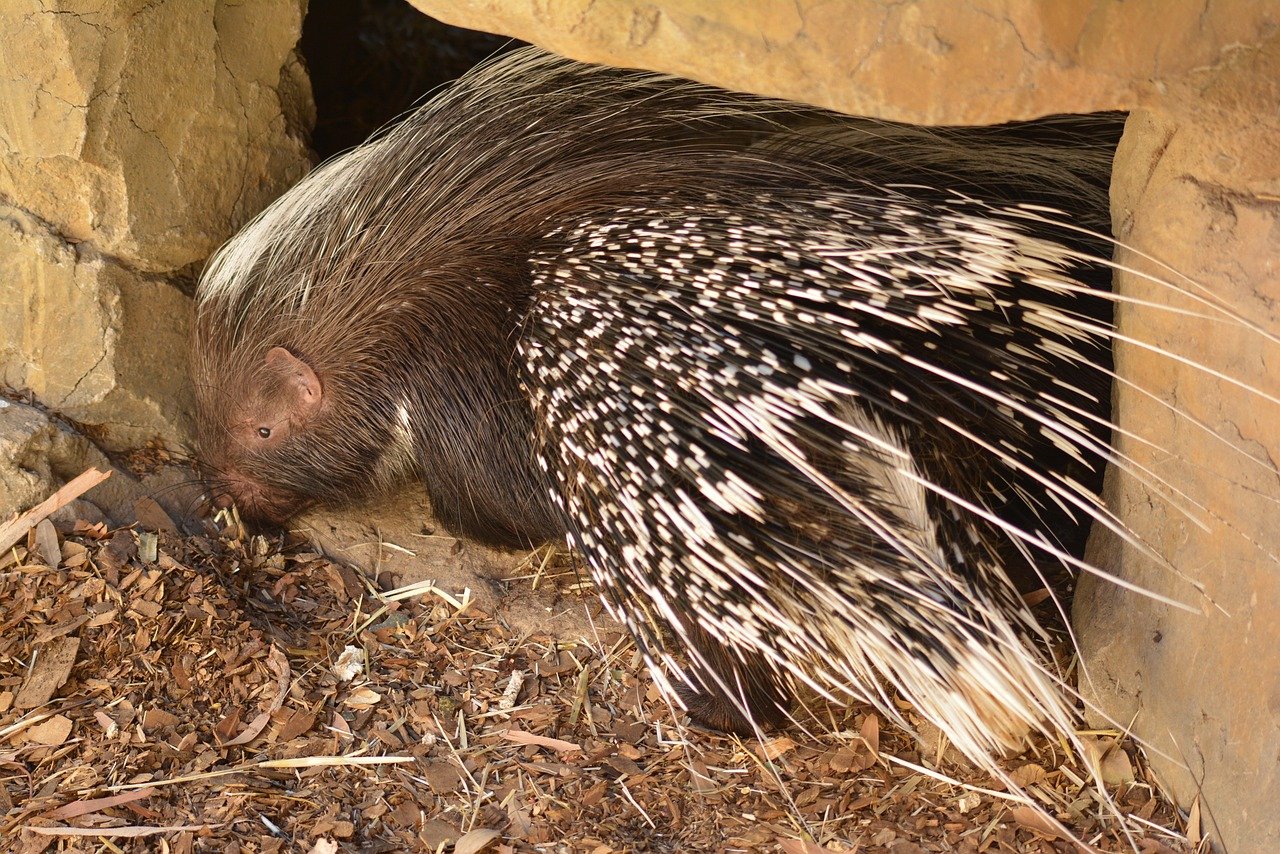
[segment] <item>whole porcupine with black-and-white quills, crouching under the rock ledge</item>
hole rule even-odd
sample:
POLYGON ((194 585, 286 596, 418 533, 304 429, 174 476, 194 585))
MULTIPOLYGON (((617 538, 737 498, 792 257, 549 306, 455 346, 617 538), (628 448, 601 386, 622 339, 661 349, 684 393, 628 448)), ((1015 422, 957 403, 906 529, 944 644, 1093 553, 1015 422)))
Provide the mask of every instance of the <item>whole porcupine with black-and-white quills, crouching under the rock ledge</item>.
POLYGON ((695 720, 806 686, 905 725, 896 693, 993 767, 1073 722, 1012 570, 1116 524, 1085 483, 1117 133, 511 54, 211 261, 210 488, 279 524, 417 479, 457 534, 567 538, 695 720))

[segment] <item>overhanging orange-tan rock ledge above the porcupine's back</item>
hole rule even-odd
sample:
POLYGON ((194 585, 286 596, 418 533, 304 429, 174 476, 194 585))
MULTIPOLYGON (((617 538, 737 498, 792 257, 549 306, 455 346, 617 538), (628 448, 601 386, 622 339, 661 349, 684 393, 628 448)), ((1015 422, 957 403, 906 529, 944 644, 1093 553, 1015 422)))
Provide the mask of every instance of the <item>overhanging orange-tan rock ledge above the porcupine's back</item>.
POLYGON ((1143 104, 1280 26, 1274 0, 410 0, 566 56, 920 124, 1143 104))

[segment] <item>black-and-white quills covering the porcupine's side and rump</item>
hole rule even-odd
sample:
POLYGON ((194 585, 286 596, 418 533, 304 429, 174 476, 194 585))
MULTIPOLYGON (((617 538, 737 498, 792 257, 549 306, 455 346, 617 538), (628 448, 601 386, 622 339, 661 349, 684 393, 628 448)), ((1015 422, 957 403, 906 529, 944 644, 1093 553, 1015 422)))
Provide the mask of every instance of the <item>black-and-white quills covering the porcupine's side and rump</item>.
MULTIPOLYGON (((1039 411, 1062 442, 1088 444, 1091 429, 1039 392, 1007 388, 974 417, 974 401, 946 398, 960 382, 931 380, 980 382, 982 371, 955 353, 920 356, 951 346, 1018 376, 1027 329, 1046 344, 1089 344, 1055 312, 1019 309, 1018 286, 1001 280, 1038 268, 1039 287, 1055 277, 1074 287, 1073 252, 965 200, 922 207, 826 191, 808 205, 791 193, 781 207, 758 196, 611 211, 562 237, 559 256, 535 260, 539 296, 518 346, 544 470, 616 616, 650 649, 662 650, 663 630, 684 640, 695 661, 687 688, 728 700, 728 711, 709 704, 714 720, 776 722, 785 709, 773 707, 803 682, 905 723, 887 680, 970 757, 1070 729, 1002 568, 1007 531, 982 515, 998 508, 989 493, 1016 488, 1018 466, 1038 463, 1028 453, 1043 440, 1028 426, 1037 419, 1019 407, 1039 411), (963 230, 918 248, 916 227, 948 220, 963 230), (874 245, 850 239, 869 222, 874 245), (987 246, 973 241, 978 228, 987 246), (896 241, 901 257, 863 270, 878 279, 864 292, 824 283, 840 261, 856 266, 896 241), (707 243, 717 251, 700 254, 707 243), (965 252, 991 273, 969 264, 957 279, 947 266, 965 252), (975 319, 965 312, 983 302, 1020 315, 983 321, 1006 337, 1002 350, 966 342, 975 319), (826 339, 831 330, 841 333, 826 339), (886 353, 911 360, 910 378, 901 365, 886 374, 886 353), (951 460, 975 452, 992 465, 951 460)), ((1061 367, 1046 362, 1037 370, 1061 367)))

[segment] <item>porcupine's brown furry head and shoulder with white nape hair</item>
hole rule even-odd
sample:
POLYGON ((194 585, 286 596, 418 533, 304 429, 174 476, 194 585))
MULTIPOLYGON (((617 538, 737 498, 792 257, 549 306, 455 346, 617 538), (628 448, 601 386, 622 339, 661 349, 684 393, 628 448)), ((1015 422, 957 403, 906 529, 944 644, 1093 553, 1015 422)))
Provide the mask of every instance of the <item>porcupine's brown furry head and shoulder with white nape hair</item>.
POLYGON ((278 526, 417 479, 453 533, 545 542, 556 524, 534 485, 530 415, 504 370, 521 277, 453 273, 422 242, 315 216, 362 154, 311 173, 205 271, 192 375, 211 493, 278 526))

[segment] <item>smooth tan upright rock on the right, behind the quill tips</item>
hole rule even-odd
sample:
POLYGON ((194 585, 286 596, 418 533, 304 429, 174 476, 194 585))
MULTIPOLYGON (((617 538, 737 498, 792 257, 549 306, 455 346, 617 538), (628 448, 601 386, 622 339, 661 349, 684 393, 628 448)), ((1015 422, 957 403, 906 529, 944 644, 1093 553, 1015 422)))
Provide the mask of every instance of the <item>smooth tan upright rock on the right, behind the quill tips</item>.
MULTIPOLYGON (((1280 40, 1206 73, 1196 95, 1129 120, 1112 210, 1116 236, 1135 251, 1119 260, 1167 275, 1137 252, 1156 256, 1204 286, 1203 296, 1275 335, 1280 40)), ((1121 275, 1116 287, 1206 314, 1203 305, 1175 300, 1139 277, 1121 275)), ((1093 676, 1088 690, 1156 748, 1148 758, 1180 803, 1201 794, 1206 826, 1216 826, 1229 851, 1280 850, 1280 344, 1231 324, 1142 306, 1124 307, 1119 320, 1121 333, 1272 401, 1137 347, 1117 350, 1117 369, 1133 385, 1117 385, 1116 416, 1151 443, 1121 437, 1119 444, 1184 494, 1160 495, 1112 469, 1107 499, 1187 580, 1101 531, 1093 560, 1194 613, 1082 580, 1075 622, 1093 676)))

